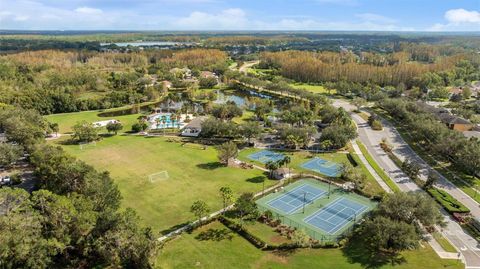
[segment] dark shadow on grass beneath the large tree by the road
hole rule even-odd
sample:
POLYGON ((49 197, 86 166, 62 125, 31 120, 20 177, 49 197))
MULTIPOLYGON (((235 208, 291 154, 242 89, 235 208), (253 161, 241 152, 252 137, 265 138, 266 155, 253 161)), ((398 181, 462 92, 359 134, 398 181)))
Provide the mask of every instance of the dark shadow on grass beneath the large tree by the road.
POLYGON ((362 267, 369 269, 380 268, 387 264, 395 266, 406 262, 405 258, 398 253, 371 250, 359 235, 350 239, 342 251, 350 263, 359 263, 362 267))

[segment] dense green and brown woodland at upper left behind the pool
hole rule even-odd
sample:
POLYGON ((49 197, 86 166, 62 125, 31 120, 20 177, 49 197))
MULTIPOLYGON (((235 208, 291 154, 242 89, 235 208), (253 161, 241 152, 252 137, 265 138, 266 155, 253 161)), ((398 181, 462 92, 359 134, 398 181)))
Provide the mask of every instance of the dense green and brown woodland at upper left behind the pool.
POLYGON ((10 54, 0 57, 0 102, 51 114, 152 101, 164 93, 162 80, 176 80, 170 69, 185 66, 221 74, 227 55, 213 49, 10 54))

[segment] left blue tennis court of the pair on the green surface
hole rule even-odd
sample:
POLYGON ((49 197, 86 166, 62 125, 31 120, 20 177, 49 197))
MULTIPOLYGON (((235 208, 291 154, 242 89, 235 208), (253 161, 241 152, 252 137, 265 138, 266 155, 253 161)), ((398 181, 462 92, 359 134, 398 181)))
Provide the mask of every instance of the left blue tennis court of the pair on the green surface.
POLYGON ((322 196, 327 191, 314 187, 309 184, 300 185, 287 193, 267 202, 267 205, 281 211, 284 214, 291 214, 303 206, 305 203, 310 204, 322 196))

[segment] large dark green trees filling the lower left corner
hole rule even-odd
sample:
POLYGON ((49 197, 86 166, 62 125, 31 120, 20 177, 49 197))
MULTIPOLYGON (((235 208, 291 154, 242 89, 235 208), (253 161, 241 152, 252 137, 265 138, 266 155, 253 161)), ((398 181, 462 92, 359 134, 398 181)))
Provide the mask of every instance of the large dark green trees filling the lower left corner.
POLYGON ((0 267, 150 268, 150 228, 120 208, 108 172, 43 142, 52 127, 36 111, 0 108, 0 131, 28 153, 38 189, 0 189, 0 267))

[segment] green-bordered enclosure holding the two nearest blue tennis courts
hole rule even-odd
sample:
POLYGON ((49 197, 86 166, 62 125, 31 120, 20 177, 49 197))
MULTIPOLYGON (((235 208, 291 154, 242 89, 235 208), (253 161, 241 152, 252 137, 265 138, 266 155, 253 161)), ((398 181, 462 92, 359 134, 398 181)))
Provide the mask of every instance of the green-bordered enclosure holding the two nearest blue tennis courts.
POLYGON ((283 224, 303 229, 311 238, 335 242, 376 204, 315 179, 301 179, 257 200, 260 211, 271 211, 283 224))

